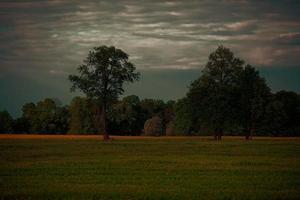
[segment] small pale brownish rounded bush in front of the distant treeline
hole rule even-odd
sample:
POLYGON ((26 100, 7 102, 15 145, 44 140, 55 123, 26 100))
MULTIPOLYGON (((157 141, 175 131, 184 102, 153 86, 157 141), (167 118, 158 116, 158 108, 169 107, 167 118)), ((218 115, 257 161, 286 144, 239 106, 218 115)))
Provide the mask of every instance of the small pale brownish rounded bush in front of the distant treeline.
POLYGON ((163 133, 162 120, 158 116, 148 119, 144 125, 144 132, 147 136, 160 136, 163 133))

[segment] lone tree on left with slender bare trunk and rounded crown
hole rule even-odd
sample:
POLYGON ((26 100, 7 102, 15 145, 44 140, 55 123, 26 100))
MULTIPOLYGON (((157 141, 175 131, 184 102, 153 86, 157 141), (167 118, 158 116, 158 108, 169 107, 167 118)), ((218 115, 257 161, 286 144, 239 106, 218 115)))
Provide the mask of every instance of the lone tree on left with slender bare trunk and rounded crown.
POLYGON ((108 140, 107 107, 123 94, 123 84, 134 82, 140 74, 128 61, 128 55, 113 46, 95 47, 89 52, 83 64, 77 68, 79 75, 70 75, 71 90, 79 89, 91 99, 101 102, 101 124, 103 139, 108 140))

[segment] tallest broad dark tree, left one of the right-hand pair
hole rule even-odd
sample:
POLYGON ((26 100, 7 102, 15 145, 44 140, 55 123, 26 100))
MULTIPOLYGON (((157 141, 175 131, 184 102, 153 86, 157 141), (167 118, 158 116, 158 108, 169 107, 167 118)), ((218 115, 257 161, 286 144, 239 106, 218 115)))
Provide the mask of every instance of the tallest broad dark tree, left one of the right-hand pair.
POLYGON ((244 61, 223 46, 210 54, 199 79, 194 81, 188 92, 193 108, 193 118, 201 118, 214 130, 215 139, 220 140, 227 124, 235 113, 238 77, 244 61))

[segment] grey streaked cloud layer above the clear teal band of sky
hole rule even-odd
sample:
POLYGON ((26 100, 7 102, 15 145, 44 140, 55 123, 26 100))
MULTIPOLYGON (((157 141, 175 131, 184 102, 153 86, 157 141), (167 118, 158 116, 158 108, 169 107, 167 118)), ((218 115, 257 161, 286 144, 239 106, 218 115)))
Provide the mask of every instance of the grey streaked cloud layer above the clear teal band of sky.
POLYGON ((143 58, 134 59, 140 68, 180 68, 177 59, 193 60, 182 62, 182 69, 202 67, 198 64, 220 44, 244 49, 241 55, 249 62, 266 65, 285 63, 277 62, 265 47, 299 45, 298 3, 46 0, 6 1, 0 7, 4 16, 0 21, 5 22, 0 26, 0 62, 18 60, 46 71, 59 69, 60 63, 70 69, 101 44, 143 58), (257 62, 263 60, 257 52, 268 55, 267 59, 257 62))

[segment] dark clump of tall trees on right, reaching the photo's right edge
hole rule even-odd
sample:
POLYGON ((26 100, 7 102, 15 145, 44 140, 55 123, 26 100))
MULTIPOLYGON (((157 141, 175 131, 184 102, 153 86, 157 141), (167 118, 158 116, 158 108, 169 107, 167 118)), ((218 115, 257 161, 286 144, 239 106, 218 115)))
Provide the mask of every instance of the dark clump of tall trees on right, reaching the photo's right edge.
POLYGON ((223 134, 246 135, 246 139, 292 136, 300 131, 299 108, 298 94, 272 95, 254 67, 220 46, 209 56, 200 78, 192 82, 187 99, 177 103, 175 124, 185 134, 212 131, 218 138, 223 134))

